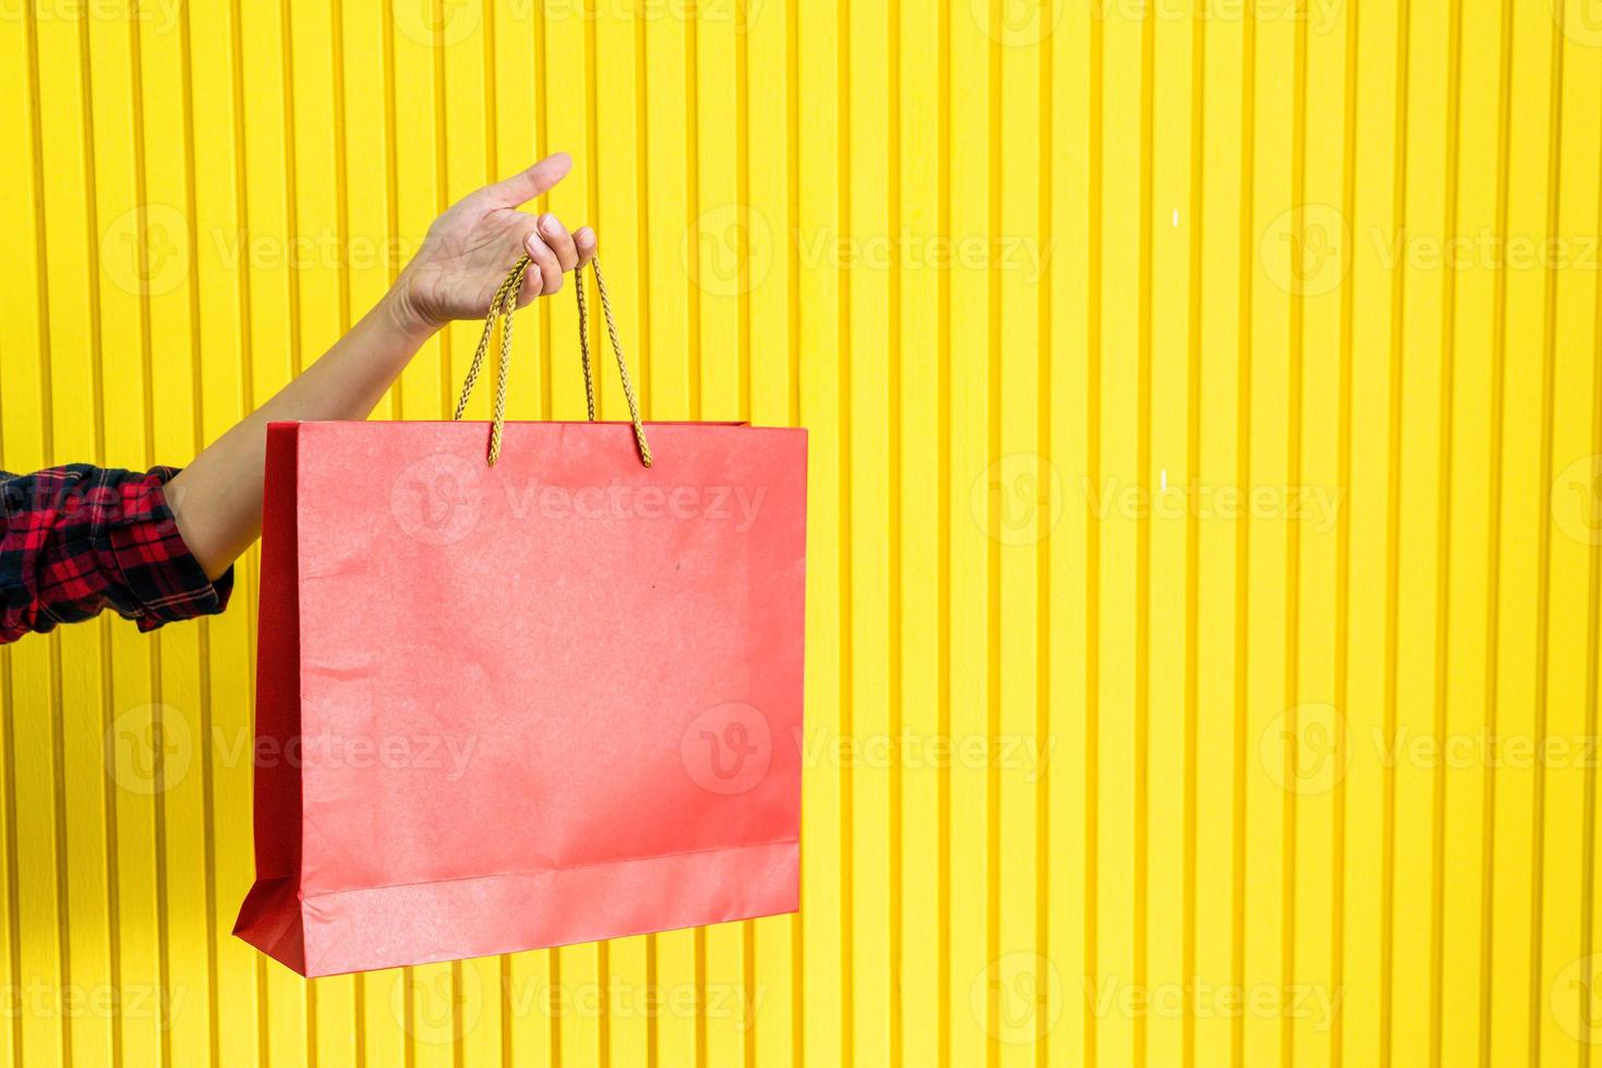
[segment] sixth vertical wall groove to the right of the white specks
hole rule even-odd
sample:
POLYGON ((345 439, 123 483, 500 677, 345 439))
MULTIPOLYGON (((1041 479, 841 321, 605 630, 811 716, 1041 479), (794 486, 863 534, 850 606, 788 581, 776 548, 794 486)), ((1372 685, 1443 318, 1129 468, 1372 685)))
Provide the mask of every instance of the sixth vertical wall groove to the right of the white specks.
MULTIPOLYGON (((1442 232, 1447 240, 1458 234, 1458 160, 1461 114, 1459 91, 1463 85, 1463 10, 1461 0, 1451 0, 1447 14, 1447 189, 1442 211, 1442 232)), ((1440 299, 1440 456, 1437 472, 1437 530, 1435 530, 1435 737, 1447 738, 1447 701, 1450 700, 1450 612, 1451 612, 1451 432, 1453 391, 1456 359, 1456 311, 1458 271, 1451 256, 1442 259, 1440 299)), ((1431 828, 1431 940, 1429 940, 1429 1060, 1440 1065, 1442 1057, 1442 983, 1445 978, 1445 893, 1447 893, 1447 769, 1437 761, 1432 794, 1435 818, 1431 828)))

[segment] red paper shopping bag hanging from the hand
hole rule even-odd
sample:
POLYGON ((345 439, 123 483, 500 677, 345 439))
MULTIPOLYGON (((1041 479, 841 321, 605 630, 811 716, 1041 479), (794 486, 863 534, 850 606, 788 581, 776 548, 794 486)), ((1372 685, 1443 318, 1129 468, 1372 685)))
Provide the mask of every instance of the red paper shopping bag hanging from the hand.
POLYGON ((268 431, 234 933, 301 975, 798 906, 806 432, 490 437, 268 431))

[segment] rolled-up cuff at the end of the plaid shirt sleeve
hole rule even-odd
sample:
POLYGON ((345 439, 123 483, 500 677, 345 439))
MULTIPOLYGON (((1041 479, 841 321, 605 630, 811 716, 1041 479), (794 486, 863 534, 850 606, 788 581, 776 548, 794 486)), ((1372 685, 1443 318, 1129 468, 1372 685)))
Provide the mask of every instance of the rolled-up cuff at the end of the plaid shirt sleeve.
POLYGON ((178 533, 165 490, 175 474, 178 468, 152 468, 144 477, 123 482, 122 508, 107 530, 112 562, 128 594, 128 604, 119 608, 141 631, 216 615, 234 592, 234 568, 211 581, 178 533))

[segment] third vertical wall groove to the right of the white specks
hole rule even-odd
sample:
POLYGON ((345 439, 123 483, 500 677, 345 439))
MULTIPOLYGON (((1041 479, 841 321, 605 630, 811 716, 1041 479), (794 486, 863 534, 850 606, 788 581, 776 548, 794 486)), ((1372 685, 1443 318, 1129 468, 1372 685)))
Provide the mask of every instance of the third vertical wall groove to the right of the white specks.
MULTIPOLYGON (((1298 240, 1304 239, 1307 197, 1307 5, 1296 0, 1296 51, 1291 64, 1291 219, 1298 240)), ((1302 375, 1306 360, 1306 295, 1301 285, 1291 285, 1290 336, 1286 338, 1286 362, 1290 363, 1290 389, 1286 405, 1290 418, 1285 434, 1285 472, 1291 485, 1302 485, 1302 375)), ((1301 524, 1285 524, 1285 727, 1290 738, 1299 738, 1301 713, 1301 524)), ((1296 781, 1296 745, 1288 743, 1282 754, 1285 783, 1296 781)), ((1282 791, 1280 812, 1283 825, 1280 841, 1280 990, 1294 990, 1296 983, 1296 791, 1282 791)), ((1296 1031, 1291 1014, 1280 1017, 1280 1063, 1294 1063, 1296 1031)))

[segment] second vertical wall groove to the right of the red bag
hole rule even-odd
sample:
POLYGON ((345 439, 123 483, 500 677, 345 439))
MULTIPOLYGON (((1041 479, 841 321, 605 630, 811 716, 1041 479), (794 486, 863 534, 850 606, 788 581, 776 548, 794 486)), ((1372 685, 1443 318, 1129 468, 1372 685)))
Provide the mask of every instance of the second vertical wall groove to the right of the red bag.
MULTIPOLYGON (((899 239, 902 231, 902 99, 900 99, 900 0, 888 0, 886 21, 888 21, 888 56, 886 56, 886 106, 888 106, 888 122, 886 122, 886 200, 889 208, 889 232, 899 239)), ((891 1068, 900 1068, 905 1039, 902 1034, 902 1026, 905 1020, 905 1012, 902 1009, 902 954, 905 945, 905 935, 902 930, 902 759, 900 751, 900 735, 902 735, 902 698, 904 698, 904 658, 902 658, 902 581, 904 581, 904 564, 902 564, 902 509, 905 508, 905 484, 904 484, 904 421, 905 415, 902 412, 902 362, 905 360, 904 343, 902 343, 902 263, 899 256, 891 258, 889 269, 889 291, 888 291, 888 341, 889 341, 889 487, 888 487, 888 516, 886 528, 889 532, 889 567, 886 568, 886 604, 889 605, 889 624, 888 642, 889 642, 889 708, 886 709, 888 725, 889 725, 889 916, 886 916, 889 929, 889 975, 886 977, 891 1002, 891 1018, 889 1018, 889 1063, 891 1068)))

